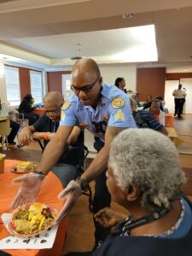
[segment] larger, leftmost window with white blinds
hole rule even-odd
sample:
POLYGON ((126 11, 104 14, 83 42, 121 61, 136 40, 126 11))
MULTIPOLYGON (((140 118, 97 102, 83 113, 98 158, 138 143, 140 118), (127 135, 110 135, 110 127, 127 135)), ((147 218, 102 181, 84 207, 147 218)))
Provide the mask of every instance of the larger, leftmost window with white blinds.
POLYGON ((5 66, 5 82, 7 89, 7 100, 10 106, 20 105, 20 79, 19 68, 5 66))

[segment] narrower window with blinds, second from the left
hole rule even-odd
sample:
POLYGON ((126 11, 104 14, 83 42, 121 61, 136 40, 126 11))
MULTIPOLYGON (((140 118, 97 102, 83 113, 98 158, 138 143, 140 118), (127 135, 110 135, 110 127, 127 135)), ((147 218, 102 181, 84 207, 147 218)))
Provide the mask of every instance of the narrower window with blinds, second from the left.
POLYGON ((43 102, 42 73, 30 70, 31 93, 35 103, 43 102))

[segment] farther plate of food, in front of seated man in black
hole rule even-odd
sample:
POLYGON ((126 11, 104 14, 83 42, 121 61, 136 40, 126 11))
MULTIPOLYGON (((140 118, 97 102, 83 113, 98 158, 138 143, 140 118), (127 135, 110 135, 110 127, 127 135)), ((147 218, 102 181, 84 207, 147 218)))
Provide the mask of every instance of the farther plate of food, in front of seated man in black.
POLYGON ((11 167, 11 172, 27 173, 34 172, 38 167, 38 162, 35 161, 22 161, 19 164, 11 167))

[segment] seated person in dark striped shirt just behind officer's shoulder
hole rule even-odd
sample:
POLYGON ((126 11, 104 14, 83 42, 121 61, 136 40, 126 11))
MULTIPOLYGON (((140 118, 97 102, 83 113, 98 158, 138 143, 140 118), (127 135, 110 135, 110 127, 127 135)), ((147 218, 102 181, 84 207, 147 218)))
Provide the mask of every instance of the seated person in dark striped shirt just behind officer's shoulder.
POLYGON ((160 125, 160 123, 154 118, 153 114, 143 109, 137 110, 137 104, 133 99, 130 99, 130 103, 132 115, 138 128, 150 128, 154 131, 160 131, 167 135, 164 125, 160 125))

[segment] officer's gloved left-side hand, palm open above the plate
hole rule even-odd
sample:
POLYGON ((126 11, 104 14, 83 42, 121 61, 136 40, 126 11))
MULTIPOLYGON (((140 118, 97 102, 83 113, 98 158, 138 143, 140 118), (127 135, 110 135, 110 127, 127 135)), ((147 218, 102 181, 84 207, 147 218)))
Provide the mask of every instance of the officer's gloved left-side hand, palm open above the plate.
POLYGON ((16 207, 35 201, 41 189, 42 181, 43 178, 35 173, 29 173, 15 178, 13 182, 21 183, 21 185, 15 195, 14 201, 11 203, 11 208, 15 209, 16 207))

